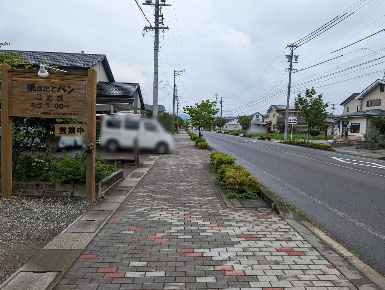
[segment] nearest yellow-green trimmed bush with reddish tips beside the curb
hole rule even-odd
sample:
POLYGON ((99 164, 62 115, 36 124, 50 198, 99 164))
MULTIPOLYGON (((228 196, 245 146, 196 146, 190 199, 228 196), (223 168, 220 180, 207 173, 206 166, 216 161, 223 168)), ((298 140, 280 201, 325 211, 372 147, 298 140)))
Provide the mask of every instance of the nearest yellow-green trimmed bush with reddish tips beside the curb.
POLYGON ((244 168, 239 170, 239 168, 229 166, 223 173, 223 181, 223 188, 225 191, 233 191, 242 196, 246 191, 256 195, 262 189, 261 183, 244 168))

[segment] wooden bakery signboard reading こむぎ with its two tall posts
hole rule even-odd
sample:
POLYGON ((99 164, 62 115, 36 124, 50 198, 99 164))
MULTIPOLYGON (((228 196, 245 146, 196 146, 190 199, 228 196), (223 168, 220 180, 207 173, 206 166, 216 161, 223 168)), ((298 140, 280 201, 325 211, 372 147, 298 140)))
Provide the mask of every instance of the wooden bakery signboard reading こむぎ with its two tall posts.
MULTIPOLYGON (((2 198, 12 196, 12 122, 10 117, 87 119, 87 143, 95 144, 96 70, 88 74, 13 70, 1 66, 2 198)), ((95 150, 87 154, 86 201, 95 200, 95 150)))

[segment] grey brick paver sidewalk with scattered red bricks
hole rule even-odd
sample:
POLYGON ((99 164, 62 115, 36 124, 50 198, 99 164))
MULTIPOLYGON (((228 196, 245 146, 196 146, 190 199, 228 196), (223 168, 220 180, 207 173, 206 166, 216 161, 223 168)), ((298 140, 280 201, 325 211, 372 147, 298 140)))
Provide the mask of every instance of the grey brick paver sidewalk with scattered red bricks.
POLYGON ((57 289, 355 289, 269 208, 226 208, 208 160, 180 133, 57 289))

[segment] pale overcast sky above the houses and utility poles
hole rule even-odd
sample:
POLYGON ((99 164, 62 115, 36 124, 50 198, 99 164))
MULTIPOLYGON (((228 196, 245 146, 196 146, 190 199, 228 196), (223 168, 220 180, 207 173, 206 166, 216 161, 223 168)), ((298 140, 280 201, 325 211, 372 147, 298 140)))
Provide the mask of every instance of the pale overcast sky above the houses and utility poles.
MULTIPOLYGON (((138 2, 153 25, 153 8, 138 2)), ((286 105, 285 55, 286 45, 292 43, 301 44, 294 51, 299 56, 293 65, 297 70, 343 56, 293 73, 291 105, 298 93, 314 86, 325 102, 336 104, 335 114, 341 114, 343 100, 383 78, 385 57, 378 58, 385 55, 385 32, 333 52, 385 28, 383 0, 166 4, 172 7, 162 8, 164 25, 170 29, 160 34, 158 104, 169 112, 174 69, 188 70, 176 79, 179 112, 188 104, 214 101, 216 92, 223 97, 223 116, 264 113, 270 105, 286 105), (298 42, 352 12, 314 39, 298 42)), ((145 104, 152 104, 154 34, 142 36, 148 23, 134 0, 3 0, 1 7, 0 42, 12 43, 3 49, 105 54, 115 80, 139 82, 145 104)))

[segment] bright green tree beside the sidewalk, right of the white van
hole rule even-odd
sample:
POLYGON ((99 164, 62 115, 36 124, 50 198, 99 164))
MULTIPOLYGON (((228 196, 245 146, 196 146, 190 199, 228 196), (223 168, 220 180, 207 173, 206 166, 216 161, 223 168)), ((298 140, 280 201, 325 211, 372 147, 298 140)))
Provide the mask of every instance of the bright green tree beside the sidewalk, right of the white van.
MULTIPOLYGON (((203 128, 210 128, 215 120, 215 114, 219 112, 219 109, 215 108, 216 102, 210 100, 202 101, 201 104, 195 103, 195 106, 183 107, 183 113, 188 114, 191 119, 191 125, 203 128)), ((201 132, 199 130, 199 138, 201 138, 201 132)))

